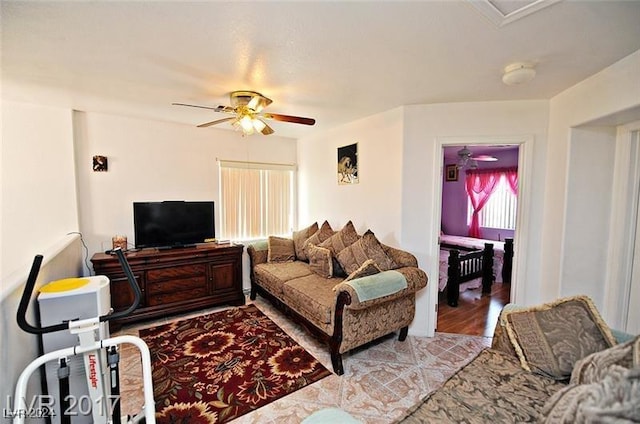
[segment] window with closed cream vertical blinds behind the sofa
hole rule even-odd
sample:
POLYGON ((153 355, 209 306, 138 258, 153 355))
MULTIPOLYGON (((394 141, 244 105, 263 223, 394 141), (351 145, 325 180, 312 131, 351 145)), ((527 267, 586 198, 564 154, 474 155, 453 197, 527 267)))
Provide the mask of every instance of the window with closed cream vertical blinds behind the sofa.
POLYGON ((220 238, 290 234, 295 166, 220 161, 220 238))

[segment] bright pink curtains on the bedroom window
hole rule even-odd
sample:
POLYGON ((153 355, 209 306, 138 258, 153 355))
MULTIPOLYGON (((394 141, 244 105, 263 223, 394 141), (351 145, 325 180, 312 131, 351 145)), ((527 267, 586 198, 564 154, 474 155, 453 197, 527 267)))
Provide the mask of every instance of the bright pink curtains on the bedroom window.
POLYGON ((469 169, 465 189, 471 200, 473 214, 469 226, 469 237, 482 238, 479 213, 489 201, 502 176, 507 178, 513 194, 518 194, 518 168, 469 169))

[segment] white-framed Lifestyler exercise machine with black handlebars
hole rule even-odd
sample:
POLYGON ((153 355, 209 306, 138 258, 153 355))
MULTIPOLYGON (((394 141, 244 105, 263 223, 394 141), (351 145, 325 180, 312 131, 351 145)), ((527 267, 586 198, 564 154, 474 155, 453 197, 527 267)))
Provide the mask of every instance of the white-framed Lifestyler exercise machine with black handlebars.
MULTIPOLYGON (((121 318, 130 314, 138 307, 142 293, 140 287, 133 276, 131 267, 121 249, 115 249, 120 265, 127 277, 129 285, 134 294, 134 300, 131 306, 126 310, 111 313, 110 310, 104 315, 86 319, 78 319, 70 317, 68 320, 52 325, 33 326, 27 322, 26 314, 33 289, 42 265, 42 255, 34 258, 31 271, 25 284, 25 289, 18 306, 17 320, 18 325, 24 331, 44 335, 58 331, 69 331, 77 337, 78 343, 75 346, 58 349, 47 352, 36 358, 22 371, 16 384, 14 397, 14 410, 12 412, 14 424, 24 423, 26 418, 42 418, 46 416, 54 418, 55 422, 61 424, 71 424, 77 418, 77 422, 81 419, 88 420, 94 424, 121 424, 121 423, 137 423, 146 422, 147 424, 155 424, 155 401, 153 398, 153 383, 151 379, 151 355, 146 343, 139 337, 134 336, 117 336, 104 338, 105 332, 102 330, 104 325, 112 319, 121 318), (102 328, 101 328, 102 326, 102 328), (122 417, 120 413, 120 393, 119 393, 119 353, 118 348, 123 344, 131 344, 135 346, 142 359, 142 378, 144 391, 144 405, 142 410, 135 416, 122 417), (84 373, 74 374, 73 378, 80 378, 80 384, 86 386, 88 393, 78 397, 70 393, 69 388, 74 384, 69 384, 70 379, 70 363, 71 358, 81 356, 84 367, 84 373), (46 410, 43 410, 43 402, 34 402, 33 400, 27 404, 27 385, 31 375, 41 366, 57 361, 58 363, 58 396, 57 399, 48 397, 44 402, 46 410), (34 410, 34 404, 40 408, 34 410)), ((77 279, 67 279, 64 284, 71 287, 82 287, 84 284, 90 284, 91 279, 105 279, 104 276, 85 277, 77 279)), ((104 281, 97 282, 104 284, 104 281)), ((77 383, 77 382, 75 382, 77 383)), ((77 384, 75 384, 77 386, 77 384)))

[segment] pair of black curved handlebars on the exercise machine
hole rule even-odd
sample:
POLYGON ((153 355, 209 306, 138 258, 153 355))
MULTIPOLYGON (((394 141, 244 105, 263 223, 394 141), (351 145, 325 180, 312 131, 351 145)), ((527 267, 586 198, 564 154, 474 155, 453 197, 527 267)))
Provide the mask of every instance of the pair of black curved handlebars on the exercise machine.
MULTIPOLYGON (((122 249, 117 248, 114 249, 114 252, 118 256, 118 261, 124 270, 124 273, 127 277, 127 281, 131 286, 134 294, 134 301, 131 306, 129 306, 124 311, 116 312, 114 314, 106 314, 100 316, 98 319, 100 322, 109 321, 112 319, 122 318, 123 316, 129 315, 133 312, 138 305, 140 304, 140 300, 142 299, 142 292, 140 291, 140 286, 133 276, 133 271, 131 271, 131 267, 129 266, 129 262, 127 262, 127 258, 124 256, 122 249)), ((38 279, 38 273, 40 272, 40 266, 42 265, 42 255, 36 255, 33 258, 33 264, 31 265, 31 271, 29 272, 29 277, 27 278, 27 282, 24 286, 24 290, 22 292, 22 297, 20 298, 20 304, 18 305, 18 313, 17 313, 17 321, 18 326, 27 333, 31 334, 45 334, 45 333, 53 333, 56 331, 62 331, 69 328, 69 324, 66 322, 62 322, 60 324, 48 325, 46 327, 34 327, 33 325, 27 322, 27 308, 29 307, 29 302, 31 301, 31 295, 33 294, 33 288, 36 285, 36 280, 38 279)))

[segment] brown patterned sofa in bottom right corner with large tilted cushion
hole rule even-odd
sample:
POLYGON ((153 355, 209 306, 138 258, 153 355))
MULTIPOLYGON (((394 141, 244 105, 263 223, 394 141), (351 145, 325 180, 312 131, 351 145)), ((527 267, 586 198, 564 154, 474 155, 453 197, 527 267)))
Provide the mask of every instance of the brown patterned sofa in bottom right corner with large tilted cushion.
POLYGON ((640 422, 640 337, 616 335, 585 296, 507 305, 492 347, 395 422, 640 422))

